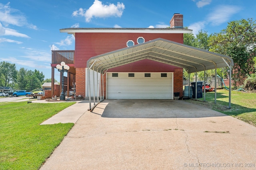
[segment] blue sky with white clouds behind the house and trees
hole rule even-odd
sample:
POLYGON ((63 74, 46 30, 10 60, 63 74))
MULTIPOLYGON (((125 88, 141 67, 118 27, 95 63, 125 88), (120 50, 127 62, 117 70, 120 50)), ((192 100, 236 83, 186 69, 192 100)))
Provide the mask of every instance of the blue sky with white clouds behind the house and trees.
MULTIPOLYGON (((1 0, 0 62, 39 70, 51 78, 51 49, 74 50, 70 27, 168 27, 173 14, 184 27, 218 33, 228 22, 253 18, 255 0, 1 0)), ((55 71, 59 81, 59 72, 55 71)))

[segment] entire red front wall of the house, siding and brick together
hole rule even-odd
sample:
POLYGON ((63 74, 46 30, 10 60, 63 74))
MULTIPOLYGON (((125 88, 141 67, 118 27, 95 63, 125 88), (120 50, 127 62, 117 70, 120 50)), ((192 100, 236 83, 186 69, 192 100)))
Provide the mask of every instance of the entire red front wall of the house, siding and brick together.
MULTIPOLYGON (((85 67, 88 59, 126 48, 126 43, 129 40, 134 41, 134 45, 136 45, 138 37, 143 37, 145 42, 163 38, 183 43, 182 33, 76 33, 74 57, 76 94, 85 96, 85 67)), ((180 96, 182 96, 182 68, 179 67, 144 59, 109 69, 108 72, 174 72, 174 92, 180 92, 180 96)), ((106 76, 104 76, 105 78, 106 76)), ((104 80, 104 95, 106 96, 106 80, 104 80)))

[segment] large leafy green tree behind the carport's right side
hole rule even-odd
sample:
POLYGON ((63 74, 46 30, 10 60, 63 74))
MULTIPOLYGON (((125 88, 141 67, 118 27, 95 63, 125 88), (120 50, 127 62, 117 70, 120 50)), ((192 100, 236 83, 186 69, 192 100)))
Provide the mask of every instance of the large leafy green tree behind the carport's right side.
POLYGON ((256 23, 252 19, 228 23, 226 29, 209 39, 210 51, 230 56, 234 61, 234 87, 255 72, 256 23))

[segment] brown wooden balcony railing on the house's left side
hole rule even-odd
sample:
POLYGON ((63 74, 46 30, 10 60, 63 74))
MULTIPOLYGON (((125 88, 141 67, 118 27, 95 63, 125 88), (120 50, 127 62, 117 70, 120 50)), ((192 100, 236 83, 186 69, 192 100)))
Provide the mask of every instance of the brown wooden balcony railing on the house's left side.
POLYGON ((54 50, 52 51, 52 64, 74 64, 74 50, 54 50))

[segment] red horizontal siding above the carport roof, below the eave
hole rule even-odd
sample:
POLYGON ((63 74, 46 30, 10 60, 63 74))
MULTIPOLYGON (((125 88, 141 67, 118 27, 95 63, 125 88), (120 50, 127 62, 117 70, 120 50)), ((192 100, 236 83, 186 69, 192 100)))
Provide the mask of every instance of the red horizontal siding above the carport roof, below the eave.
POLYGON ((183 43, 181 33, 76 33, 75 67, 84 68, 91 57, 126 48, 129 40, 136 45, 138 37, 143 37, 145 42, 163 38, 183 43))

